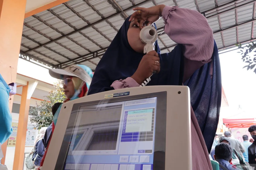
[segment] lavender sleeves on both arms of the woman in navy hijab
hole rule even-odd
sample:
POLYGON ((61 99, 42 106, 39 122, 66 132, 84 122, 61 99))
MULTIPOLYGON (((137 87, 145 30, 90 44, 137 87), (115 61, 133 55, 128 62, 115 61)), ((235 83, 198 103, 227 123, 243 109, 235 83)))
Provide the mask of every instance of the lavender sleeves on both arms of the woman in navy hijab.
MULTIPOLYGON (((212 29, 207 19, 198 11, 165 6, 162 12, 165 33, 176 43, 184 45, 184 79, 189 78, 204 63, 210 62, 214 47, 212 29)), ((116 80, 114 89, 138 87, 139 84, 128 77, 116 80)))

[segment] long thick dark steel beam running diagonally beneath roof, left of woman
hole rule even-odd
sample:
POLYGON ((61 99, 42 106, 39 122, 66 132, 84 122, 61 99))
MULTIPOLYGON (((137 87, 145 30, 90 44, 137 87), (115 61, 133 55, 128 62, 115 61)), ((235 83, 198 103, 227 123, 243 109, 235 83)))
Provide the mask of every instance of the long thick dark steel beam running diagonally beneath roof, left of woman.
MULTIPOLYGON (((126 8, 126 9, 123 10, 123 11, 128 11, 128 10, 130 10, 130 9, 132 9, 132 8, 137 7, 137 6, 142 6, 143 4, 148 3, 149 1, 151 1, 151 0, 145 0, 145 1, 141 2, 141 3, 136 4, 135 6, 131 6, 131 7, 129 7, 129 8, 126 8)), ((37 49, 37 48, 41 48, 42 46, 48 45, 48 44, 50 44, 50 43, 52 43, 52 42, 56 42, 56 41, 58 41, 58 40, 61 40, 62 38, 68 37, 68 36, 70 36, 70 35, 72 35, 72 34, 75 34, 75 33, 79 32, 79 31, 82 31, 82 30, 84 30, 84 29, 86 29, 86 28, 89 28, 89 27, 91 27, 91 26, 94 26, 94 25, 96 25, 96 24, 98 24, 98 23, 101 23, 101 22, 103 22, 103 21, 105 21, 105 20, 108 20, 108 19, 110 19, 110 18, 112 18, 112 17, 115 17, 115 16, 117 16, 117 15, 119 15, 119 14, 121 14, 121 12, 117 12, 117 13, 115 13, 115 14, 112 14, 112 15, 110 15, 110 16, 108 16, 108 17, 105 17, 105 18, 103 18, 103 19, 101 19, 101 20, 98 20, 98 21, 96 21, 96 22, 94 22, 94 23, 91 23, 90 25, 84 26, 84 27, 79 28, 79 29, 77 29, 77 30, 75 30, 75 31, 72 31, 72 32, 70 32, 70 33, 68 33, 68 34, 66 34, 66 35, 64 35, 64 36, 58 37, 58 38, 56 38, 56 39, 54 39, 54 40, 51 40, 51 41, 46 42, 46 43, 44 43, 44 44, 42 44, 42 45, 39 45, 39 46, 37 46, 37 47, 35 47, 35 48, 32 48, 30 51, 33 51, 33 50, 35 50, 35 49, 37 49)), ((26 51, 26 52, 29 52, 29 51, 26 51)))

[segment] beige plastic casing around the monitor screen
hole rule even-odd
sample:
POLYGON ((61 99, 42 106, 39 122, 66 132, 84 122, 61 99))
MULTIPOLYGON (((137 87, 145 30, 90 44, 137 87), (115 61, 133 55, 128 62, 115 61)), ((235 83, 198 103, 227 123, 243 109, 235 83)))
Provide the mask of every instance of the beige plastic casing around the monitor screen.
POLYGON ((64 103, 61 107, 58 121, 56 123, 42 169, 55 169, 55 164, 58 159, 58 154, 61 149, 61 144, 74 104, 104 100, 106 95, 128 91, 130 92, 129 96, 157 93, 162 91, 167 92, 165 169, 192 170, 190 95, 189 88, 187 86, 146 86, 124 88, 85 96, 64 103))

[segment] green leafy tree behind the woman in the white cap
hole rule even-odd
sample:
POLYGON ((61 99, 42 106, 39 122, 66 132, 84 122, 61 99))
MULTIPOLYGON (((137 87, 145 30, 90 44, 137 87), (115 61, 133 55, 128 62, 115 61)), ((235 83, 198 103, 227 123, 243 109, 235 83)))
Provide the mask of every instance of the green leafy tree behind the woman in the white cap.
POLYGON ((32 115, 30 121, 36 123, 37 129, 42 127, 48 127, 52 123, 52 105, 57 102, 64 102, 66 96, 63 88, 60 86, 61 81, 54 84, 55 91, 50 91, 46 99, 36 103, 35 108, 29 110, 29 114, 32 115))

